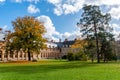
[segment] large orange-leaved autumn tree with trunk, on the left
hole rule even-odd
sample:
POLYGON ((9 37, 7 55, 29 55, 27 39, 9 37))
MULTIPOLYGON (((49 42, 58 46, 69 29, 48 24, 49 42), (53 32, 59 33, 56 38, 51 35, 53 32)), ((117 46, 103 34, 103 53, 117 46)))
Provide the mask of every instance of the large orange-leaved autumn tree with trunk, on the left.
POLYGON ((31 60, 32 52, 40 52, 40 49, 46 47, 46 39, 43 34, 46 32, 45 27, 34 17, 18 17, 12 22, 14 32, 7 35, 6 50, 21 49, 28 53, 28 60, 31 60))

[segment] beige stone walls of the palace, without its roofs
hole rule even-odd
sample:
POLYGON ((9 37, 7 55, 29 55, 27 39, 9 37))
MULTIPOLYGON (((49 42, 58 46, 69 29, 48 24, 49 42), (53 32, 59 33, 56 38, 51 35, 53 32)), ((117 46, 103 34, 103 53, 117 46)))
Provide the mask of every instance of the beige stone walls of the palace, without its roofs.
MULTIPOLYGON (((43 49, 39 54, 33 52, 31 54, 31 59, 57 59, 67 55, 69 52, 76 53, 79 50, 78 48, 61 48, 61 50, 58 48, 43 49)), ((7 60, 28 60, 28 54, 22 49, 18 53, 14 51, 13 54, 6 54, 5 42, 0 41, 0 61, 7 60)))

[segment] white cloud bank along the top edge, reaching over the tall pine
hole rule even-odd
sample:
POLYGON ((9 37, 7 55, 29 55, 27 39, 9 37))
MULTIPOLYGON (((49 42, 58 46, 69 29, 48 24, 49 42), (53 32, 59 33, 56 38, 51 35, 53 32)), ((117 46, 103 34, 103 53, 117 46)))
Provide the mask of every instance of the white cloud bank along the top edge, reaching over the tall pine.
MULTIPOLYGON (((54 14, 57 16, 60 16, 62 14, 73 14, 77 13, 81 10, 84 4, 91 4, 91 5, 105 5, 106 7, 109 6, 119 6, 120 1, 119 0, 47 0, 49 3, 53 4, 55 6, 54 8, 54 14)), ((119 13, 120 9, 114 9, 116 13, 119 13)), ((113 11, 112 10, 112 11, 113 11)), ((116 13, 112 13, 114 18, 117 18, 116 13)))

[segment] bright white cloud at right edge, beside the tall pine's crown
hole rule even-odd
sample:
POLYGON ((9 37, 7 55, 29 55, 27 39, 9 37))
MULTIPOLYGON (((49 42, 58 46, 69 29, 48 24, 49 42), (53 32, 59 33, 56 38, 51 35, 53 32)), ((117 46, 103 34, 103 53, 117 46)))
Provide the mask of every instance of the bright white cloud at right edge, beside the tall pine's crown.
POLYGON ((109 11, 109 13, 111 14, 111 16, 115 19, 120 19, 120 6, 117 8, 111 8, 111 10, 109 11))

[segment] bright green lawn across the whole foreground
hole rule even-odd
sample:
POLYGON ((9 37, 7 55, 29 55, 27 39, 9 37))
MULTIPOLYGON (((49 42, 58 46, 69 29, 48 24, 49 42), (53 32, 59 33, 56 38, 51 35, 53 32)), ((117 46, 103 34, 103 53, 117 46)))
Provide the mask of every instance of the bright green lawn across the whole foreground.
POLYGON ((120 80, 120 63, 59 60, 0 63, 0 80, 120 80))

